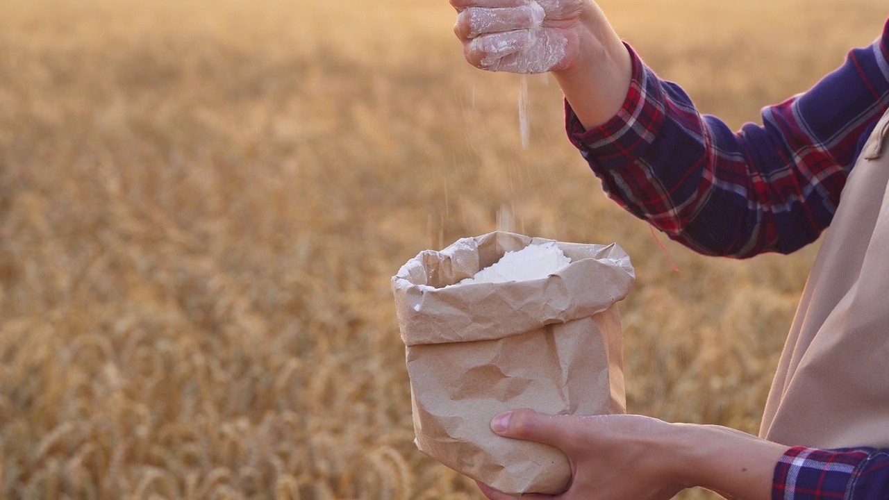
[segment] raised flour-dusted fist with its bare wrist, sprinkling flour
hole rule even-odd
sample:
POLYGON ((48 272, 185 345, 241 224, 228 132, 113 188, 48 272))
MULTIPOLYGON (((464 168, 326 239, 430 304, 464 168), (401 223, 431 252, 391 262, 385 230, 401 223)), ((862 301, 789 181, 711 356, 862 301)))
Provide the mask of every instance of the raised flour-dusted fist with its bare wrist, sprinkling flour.
POLYGON ((451 0, 454 32, 477 68, 552 71, 587 128, 602 125, 627 97, 632 61, 591 0, 451 0))

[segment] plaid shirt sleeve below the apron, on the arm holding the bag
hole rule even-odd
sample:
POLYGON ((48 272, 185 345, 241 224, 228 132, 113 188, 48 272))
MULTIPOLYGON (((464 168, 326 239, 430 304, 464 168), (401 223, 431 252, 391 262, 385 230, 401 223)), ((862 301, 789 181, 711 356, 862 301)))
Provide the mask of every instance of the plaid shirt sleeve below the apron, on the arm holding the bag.
POLYGON ((889 450, 790 448, 775 466, 773 500, 885 500, 889 450))

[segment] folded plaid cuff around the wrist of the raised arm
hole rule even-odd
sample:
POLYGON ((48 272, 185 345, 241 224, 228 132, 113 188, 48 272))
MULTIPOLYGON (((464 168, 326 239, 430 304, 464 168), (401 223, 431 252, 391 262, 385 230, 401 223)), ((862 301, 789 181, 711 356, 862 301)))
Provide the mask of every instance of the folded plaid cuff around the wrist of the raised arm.
POLYGON ((594 169, 615 170, 636 161, 651 146, 655 131, 664 121, 658 78, 629 44, 624 45, 629 50, 633 73, 627 98, 617 115, 604 125, 587 130, 565 100, 568 139, 594 169))

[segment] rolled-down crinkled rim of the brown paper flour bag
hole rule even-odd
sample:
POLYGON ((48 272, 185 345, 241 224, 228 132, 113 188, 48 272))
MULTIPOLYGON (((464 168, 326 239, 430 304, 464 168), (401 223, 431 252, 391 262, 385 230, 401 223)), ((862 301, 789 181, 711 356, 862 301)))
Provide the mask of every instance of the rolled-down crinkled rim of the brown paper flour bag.
POLYGON ((405 345, 494 340, 607 310, 636 278, 616 243, 591 245, 494 231, 425 250, 392 278, 405 345), (455 285, 529 245, 553 243, 572 262, 547 278, 455 285), (593 286, 591 288, 591 286, 593 286), (511 313, 492 315, 509 308, 511 313))

